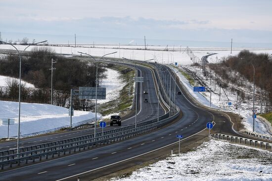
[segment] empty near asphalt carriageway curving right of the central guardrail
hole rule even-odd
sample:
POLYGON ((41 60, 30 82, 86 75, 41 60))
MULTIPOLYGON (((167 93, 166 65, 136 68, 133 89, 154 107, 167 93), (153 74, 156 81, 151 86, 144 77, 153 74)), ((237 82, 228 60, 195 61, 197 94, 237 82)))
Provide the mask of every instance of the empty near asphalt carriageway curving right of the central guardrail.
MULTIPOLYGON (((166 73, 167 72, 168 71, 166 71, 166 73)), ((142 73, 144 73, 144 71, 142 71, 142 73)), ((144 87, 143 90, 150 88, 150 84, 148 84, 148 86, 144 87)), ((151 158, 144 157, 144 155, 155 154, 155 152, 158 155, 163 154, 160 150, 165 149, 168 145, 173 146, 177 143, 178 139, 176 135, 182 135, 184 138, 183 142, 186 144, 193 143, 196 141, 195 137, 197 137, 195 134, 205 130, 206 123, 210 121, 214 121, 215 123, 214 131, 225 132, 232 135, 236 134, 232 130, 232 123, 229 121, 227 114, 202 107, 183 89, 179 82, 177 82, 176 85, 176 91, 178 90, 181 91, 182 94, 176 94, 172 96, 172 99, 173 97, 176 98, 176 104, 182 110, 183 116, 180 116, 179 120, 174 124, 150 134, 125 140, 120 143, 5 171, 0 173, 0 180, 76 181, 76 179, 80 177, 81 181, 88 181, 108 173, 116 172, 120 170, 120 168, 127 168, 130 164, 126 167, 124 163, 128 161, 137 164, 137 159, 139 158, 145 158, 145 160, 151 158), (110 170, 108 170, 108 168, 110 168, 110 170)), ((152 91, 150 90, 148 96, 149 95, 152 95, 152 91)), ((156 103, 157 101, 156 97, 150 97, 149 99, 150 103, 156 103)), ((147 105, 147 107, 149 107, 150 111, 153 111, 152 114, 155 113, 154 109, 150 109, 150 105, 147 105)), ((143 111, 143 107, 141 110, 143 111)), ((145 114, 145 116, 149 115, 149 113, 145 114)), ((202 134, 202 137, 205 137, 205 135, 202 134)))

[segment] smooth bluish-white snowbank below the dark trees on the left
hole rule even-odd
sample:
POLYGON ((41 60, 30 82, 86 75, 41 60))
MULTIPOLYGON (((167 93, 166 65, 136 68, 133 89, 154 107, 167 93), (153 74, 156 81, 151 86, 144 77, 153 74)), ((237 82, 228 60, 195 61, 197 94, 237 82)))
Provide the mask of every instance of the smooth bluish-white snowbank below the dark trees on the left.
MULTIPOLYGON (((15 124, 9 126, 9 136, 16 137, 18 134, 18 103, 0 101, 1 118, 15 119, 15 124)), ((94 113, 92 112, 75 110, 72 126, 90 122, 90 119, 93 120, 93 118, 94 113)), ((22 136, 47 133, 67 126, 70 126, 68 109, 46 104, 21 103, 20 132, 22 136)), ((0 138, 6 136, 7 125, 2 125, 0 121, 0 138)))

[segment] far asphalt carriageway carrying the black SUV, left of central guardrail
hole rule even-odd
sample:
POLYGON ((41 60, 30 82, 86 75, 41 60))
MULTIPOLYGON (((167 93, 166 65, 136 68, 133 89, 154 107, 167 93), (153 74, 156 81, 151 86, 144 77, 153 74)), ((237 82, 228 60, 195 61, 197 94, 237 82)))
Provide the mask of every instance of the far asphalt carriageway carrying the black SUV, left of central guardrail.
MULTIPOLYGON (((136 65, 138 76, 144 77, 143 83, 137 83, 137 123, 150 120, 157 117, 158 112, 158 98, 155 91, 155 85, 152 77, 152 73, 149 69, 144 67, 139 67, 136 65), (148 94, 143 94, 143 90, 148 90, 148 94), (148 99, 148 103, 143 103, 143 99, 148 99)), ((159 107, 159 115, 165 114, 166 110, 161 106, 159 107)), ((131 114, 125 117, 122 117, 122 126, 128 126, 135 124, 135 110, 131 114)), ((104 131, 110 129, 120 128, 120 126, 107 125, 104 128, 104 131)), ((96 127, 96 132, 101 132, 102 129, 99 125, 96 127)), ((83 135, 93 134, 94 128, 84 129, 84 130, 74 130, 74 131, 65 131, 63 133, 44 135, 34 138, 20 139, 20 147, 26 147, 30 145, 39 145, 53 141, 59 141, 63 139, 69 139, 74 137, 79 137, 83 135)), ((17 140, 11 142, 0 143, 0 151, 8 149, 17 149, 17 140)))

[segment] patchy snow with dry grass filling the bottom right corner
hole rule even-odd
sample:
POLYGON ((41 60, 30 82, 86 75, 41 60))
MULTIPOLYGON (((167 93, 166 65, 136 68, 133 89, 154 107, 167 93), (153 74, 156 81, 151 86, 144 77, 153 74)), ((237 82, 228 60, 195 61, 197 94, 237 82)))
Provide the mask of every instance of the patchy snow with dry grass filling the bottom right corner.
POLYGON ((212 139, 110 181, 272 181, 271 157, 270 151, 212 139))

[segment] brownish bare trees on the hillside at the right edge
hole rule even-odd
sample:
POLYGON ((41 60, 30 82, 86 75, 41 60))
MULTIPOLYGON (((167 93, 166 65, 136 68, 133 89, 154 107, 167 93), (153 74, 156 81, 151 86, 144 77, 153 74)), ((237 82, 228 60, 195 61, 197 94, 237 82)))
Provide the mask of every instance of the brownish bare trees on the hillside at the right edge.
MULTIPOLYGON (((241 85, 241 77, 227 73, 228 70, 239 72, 247 80, 253 83, 255 69, 255 85, 260 87, 261 91, 256 92, 256 98, 260 104, 266 107, 266 110, 272 110, 272 56, 267 53, 256 54, 248 50, 242 50, 237 56, 223 58, 219 65, 210 66, 217 74, 231 83, 241 85)), ((233 72, 234 73, 234 72, 233 72)))

